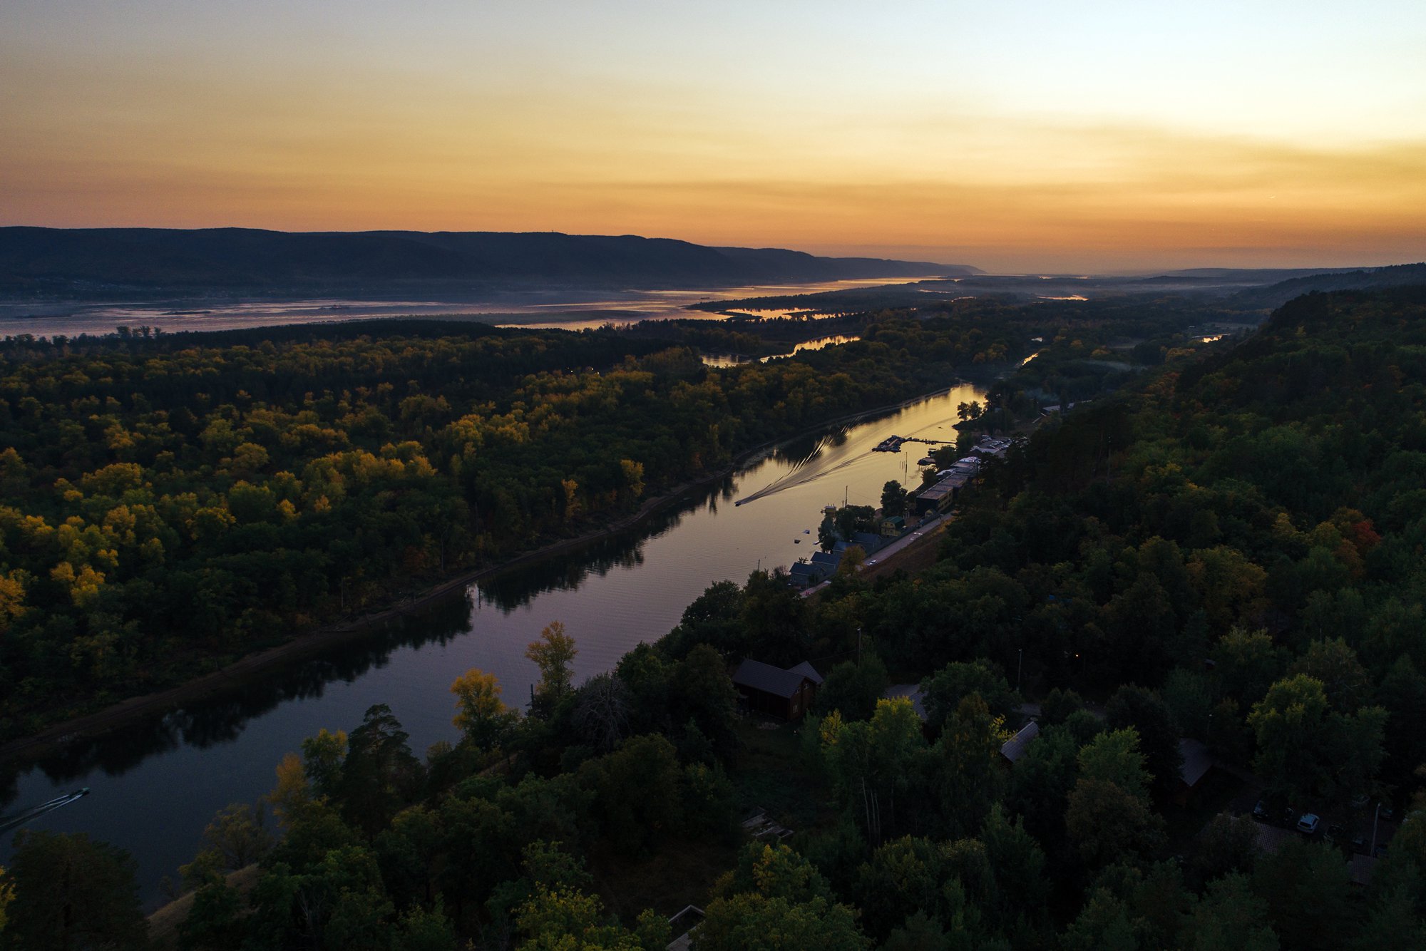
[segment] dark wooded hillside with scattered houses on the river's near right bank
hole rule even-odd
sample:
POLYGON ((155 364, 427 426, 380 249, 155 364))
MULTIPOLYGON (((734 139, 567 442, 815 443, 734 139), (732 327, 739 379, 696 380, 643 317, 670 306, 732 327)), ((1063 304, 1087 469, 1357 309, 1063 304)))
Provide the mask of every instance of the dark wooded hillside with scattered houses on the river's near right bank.
MULTIPOLYGON (((278 766, 277 840, 250 807, 210 827, 181 944, 653 951, 692 903, 719 951, 1419 948, 1423 475, 1426 289, 1293 301, 1038 428, 917 576, 719 583, 579 686, 552 624, 530 709, 466 672, 424 761, 381 706, 322 730, 278 766), (846 660, 770 731, 744 656, 846 660), (1191 790, 1181 739, 1218 764, 1191 790), (791 834, 749 841, 752 807, 791 834)), ((141 934, 123 855, 31 836, 19 940, 71 867, 116 883, 87 925, 141 934)))

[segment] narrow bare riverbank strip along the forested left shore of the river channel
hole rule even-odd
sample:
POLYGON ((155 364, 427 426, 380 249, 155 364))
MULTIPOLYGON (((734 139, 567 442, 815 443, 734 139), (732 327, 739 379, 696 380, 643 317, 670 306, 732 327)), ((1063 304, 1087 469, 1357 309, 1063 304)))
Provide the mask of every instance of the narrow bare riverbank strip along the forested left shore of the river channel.
POLYGON ((73 717, 61 723, 56 723, 29 737, 11 740, 4 746, 0 746, 0 761, 40 757, 57 749, 63 749, 66 744, 74 740, 101 736, 104 733, 134 723, 137 720, 155 717, 158 714, 167 713, 168 710, 183 707, 197 700, 240 690, 245 683, 248 683, 260 673, 265 673, 272 670, 274 667, 289 664, 307 659, 312 654, 322 653, 324 650, 335 647, 347 640, 375 633, 382 627, 385 627, 386 624, 399 620, 442 597, 452 596, 455 592, 478 580, 491 577, 493 575, 499 575, 502 572, 508 572, 515 567, 528 566, 533 562, 562 555, 588 546, 589 543, 596 542, 602 538, 617 535, 620 532, 626 532, 632 528, 636 528, 639 523, 642 523, 660 509, 669 505, 674 505, 680 499, 686 498, 690 492, 713 485, 720 479, 724 479, 729 475, 737 472, 739 469, 761 459, 764 455, 776 449, 776 446, 779 445, 783 445, 793 439, 826 432, 827 429, 836 426, 844 426, 871 416, 896 412, 900 408, 910 406, 913 403, 945 394, 948 389, 950 388, 938 388, 930 394, 911 396, 897 403, 874 406, 854 413, 836 416, 817 426, 809 428, 800 433, 793 433, 776 441, 761 443, 759 446, 744 451, 743 453, 739 453, 727 465, 720 466, 716 471, 709 472, 704 476, 700 476, 699 479, 689 480, 686 483, 669 489, 667 492, 656 498, 645 500, 637 510, 623 518, 615 519, 613 522, 609 522, 606 525, 593 526, 589 530, 575 538, 552 542, 530 552, 525 552, 516 557, 508 559, 495 566, 486 566, 462 572, 459 575, 455 575, 453 577, 449 577, 443 582, 434 585, 432 587, 425 589, 419 595, 404 597, 379 612, 365 615, 356 619, 334 622, 331 624, 309 630, 307 633, 297 634, 279 644, 274 644, 271 647, 258 650, 255 653, 250 653, 218 670, 175 684, 165 690, 138 697, 130 697, 113 706, 96 710, 94 713, 80 717, 73 717))

